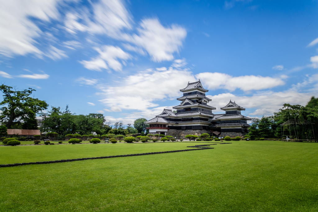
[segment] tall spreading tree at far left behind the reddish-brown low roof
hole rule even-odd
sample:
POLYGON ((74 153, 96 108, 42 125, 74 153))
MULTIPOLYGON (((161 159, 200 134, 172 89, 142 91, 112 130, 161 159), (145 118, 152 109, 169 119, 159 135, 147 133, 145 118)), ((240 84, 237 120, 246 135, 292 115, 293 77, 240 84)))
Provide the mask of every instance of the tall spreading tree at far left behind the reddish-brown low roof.
POLYGON ((3 101, 0 103, 2 111, 1 119, 5 119, 6 127, 11 128, 15 123, 23 121, 24 129, 37 129, 38 125, 35 120, 36 114, 47 109, 49 106, 45 101, 30 97, 32 88, 23 91, 17 91, 15 88, 0 85, 3 92, 3 101))

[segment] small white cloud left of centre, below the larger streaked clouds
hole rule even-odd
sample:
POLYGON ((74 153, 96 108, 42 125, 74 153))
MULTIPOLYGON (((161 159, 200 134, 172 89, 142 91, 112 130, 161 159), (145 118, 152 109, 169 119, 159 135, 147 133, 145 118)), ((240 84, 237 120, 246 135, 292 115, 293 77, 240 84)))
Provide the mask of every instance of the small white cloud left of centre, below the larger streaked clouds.
POLYGON ((111 68, 115 71, 121 71, 122 65, 118 59, 127 60, 131 58, 128 53, 115 46, 105 45, 101 48, 96 47, 95 50, 99 53, 97 58, 93 58, 90 61, 80 61, 87 69, 101 71, 101 69, 111 68))

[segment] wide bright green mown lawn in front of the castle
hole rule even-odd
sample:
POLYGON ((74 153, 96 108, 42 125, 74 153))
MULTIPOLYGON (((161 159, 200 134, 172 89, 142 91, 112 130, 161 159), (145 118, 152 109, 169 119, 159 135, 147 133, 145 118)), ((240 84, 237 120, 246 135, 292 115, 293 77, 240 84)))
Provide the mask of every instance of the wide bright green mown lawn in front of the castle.
MULTIPOLYGON (((192 144, 2 146, 0 163, 192 144)), ((232 141, 199 151, 0 168, 0 211, 318 211, 317 145, 232 141)))

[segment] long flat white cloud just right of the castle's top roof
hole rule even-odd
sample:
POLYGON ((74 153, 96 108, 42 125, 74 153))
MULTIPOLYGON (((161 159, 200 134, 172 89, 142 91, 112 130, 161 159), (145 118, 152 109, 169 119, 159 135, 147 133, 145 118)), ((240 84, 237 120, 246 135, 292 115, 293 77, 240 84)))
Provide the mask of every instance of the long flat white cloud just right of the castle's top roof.
MULTIPOLYGON (((267 88, 284 85, 285 82, 280 78, 262 77, 254 75, 246 75, 233 77, 225 73, 204 72, 196 75, 208 89, 226 89, 234 91, 241 89, 243 91, 262 90, 267 88)), ((285 78, 285 75, 284 75, 285 78)))

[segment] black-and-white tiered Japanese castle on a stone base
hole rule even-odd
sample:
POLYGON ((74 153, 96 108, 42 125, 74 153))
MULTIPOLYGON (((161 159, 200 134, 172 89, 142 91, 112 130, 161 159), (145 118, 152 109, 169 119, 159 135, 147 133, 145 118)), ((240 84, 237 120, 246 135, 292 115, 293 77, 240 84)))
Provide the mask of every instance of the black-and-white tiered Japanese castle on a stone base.
POLYGON ((247 120, 251 119, 241 115, 245 108, 230 100, 226 106, 221 107, 225 113, 213 114, 212 110, 216 108, 208 105, 211 99, 205 96, 208 90, 203 88, 200 79, 197 82, 189 82, 180 91, 183 96, 177 100, 181 101, 181 104, 173 107, 176 113, 164 109, 161 114, 145 122, 149 124, 147 129, 150 134, 171 135, 181 139, 189 134, 208 133, 211 136, 233 138, 244 137, 248 133, 250 125, 247 120))

